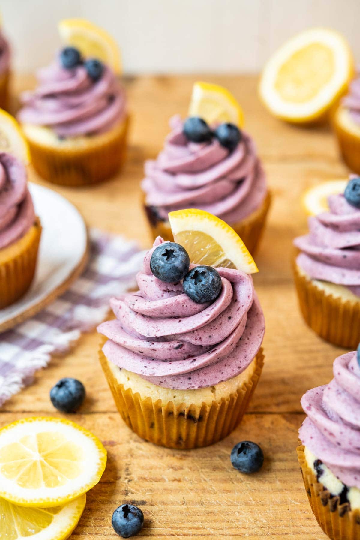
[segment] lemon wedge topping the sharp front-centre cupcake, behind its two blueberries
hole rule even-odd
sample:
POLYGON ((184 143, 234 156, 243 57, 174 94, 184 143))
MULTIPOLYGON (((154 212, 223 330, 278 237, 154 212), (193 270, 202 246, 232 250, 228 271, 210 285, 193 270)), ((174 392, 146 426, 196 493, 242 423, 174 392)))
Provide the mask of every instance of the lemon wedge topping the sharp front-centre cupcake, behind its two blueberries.
POLYGON ((236 268, 247 274, 259 272, 239 235, 215 215, 203 210, 169 213, 175 242, 185 247, 195 264, 236 268))

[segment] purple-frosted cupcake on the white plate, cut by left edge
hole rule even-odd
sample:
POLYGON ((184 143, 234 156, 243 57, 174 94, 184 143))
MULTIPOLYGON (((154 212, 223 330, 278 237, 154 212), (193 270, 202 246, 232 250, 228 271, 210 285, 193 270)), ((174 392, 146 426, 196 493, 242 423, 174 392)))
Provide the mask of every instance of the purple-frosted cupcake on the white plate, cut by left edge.
POLYGON ((26 168, 0 153, 0 309, 28 291, 36 268, 41 226, 27 185, 26 168))

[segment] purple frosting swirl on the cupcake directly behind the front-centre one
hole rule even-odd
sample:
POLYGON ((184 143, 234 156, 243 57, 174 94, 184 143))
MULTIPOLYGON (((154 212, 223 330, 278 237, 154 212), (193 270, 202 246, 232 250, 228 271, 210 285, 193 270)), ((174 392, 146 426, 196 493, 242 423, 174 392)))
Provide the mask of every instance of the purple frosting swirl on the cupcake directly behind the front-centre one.
POLYGON ((161 219, 168 212, 199 208, 233 224, 259 208, 266 196, 266 178, 252 139, 243 138, 233 152, 213 138, 192 143, 182 133, 176 116, 173 131, 156 160, 145 163, 142 189, 146 205, 155 206, 161 219))

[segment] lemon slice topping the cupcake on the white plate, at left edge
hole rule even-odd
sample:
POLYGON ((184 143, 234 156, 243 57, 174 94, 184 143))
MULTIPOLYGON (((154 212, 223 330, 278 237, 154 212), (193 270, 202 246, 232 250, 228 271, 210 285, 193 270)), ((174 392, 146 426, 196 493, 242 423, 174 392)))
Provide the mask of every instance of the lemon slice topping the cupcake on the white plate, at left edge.
POLYGON ((9 152, 23 163, 30 163, 28 143, 21 127, 11 114, 0 109, 0 152, 9 152))

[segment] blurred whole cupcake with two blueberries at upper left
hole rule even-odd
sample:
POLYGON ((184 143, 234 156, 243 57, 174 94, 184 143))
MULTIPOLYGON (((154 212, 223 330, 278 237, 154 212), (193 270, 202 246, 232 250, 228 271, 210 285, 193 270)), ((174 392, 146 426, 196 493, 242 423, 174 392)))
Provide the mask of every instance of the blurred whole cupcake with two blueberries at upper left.
POLYGON ((22 96, 18 118, 32 164, 54 184, 106 180, 124 161, 128 114, 125 90, 110 65, 67 46, 38 72, 22 96))

